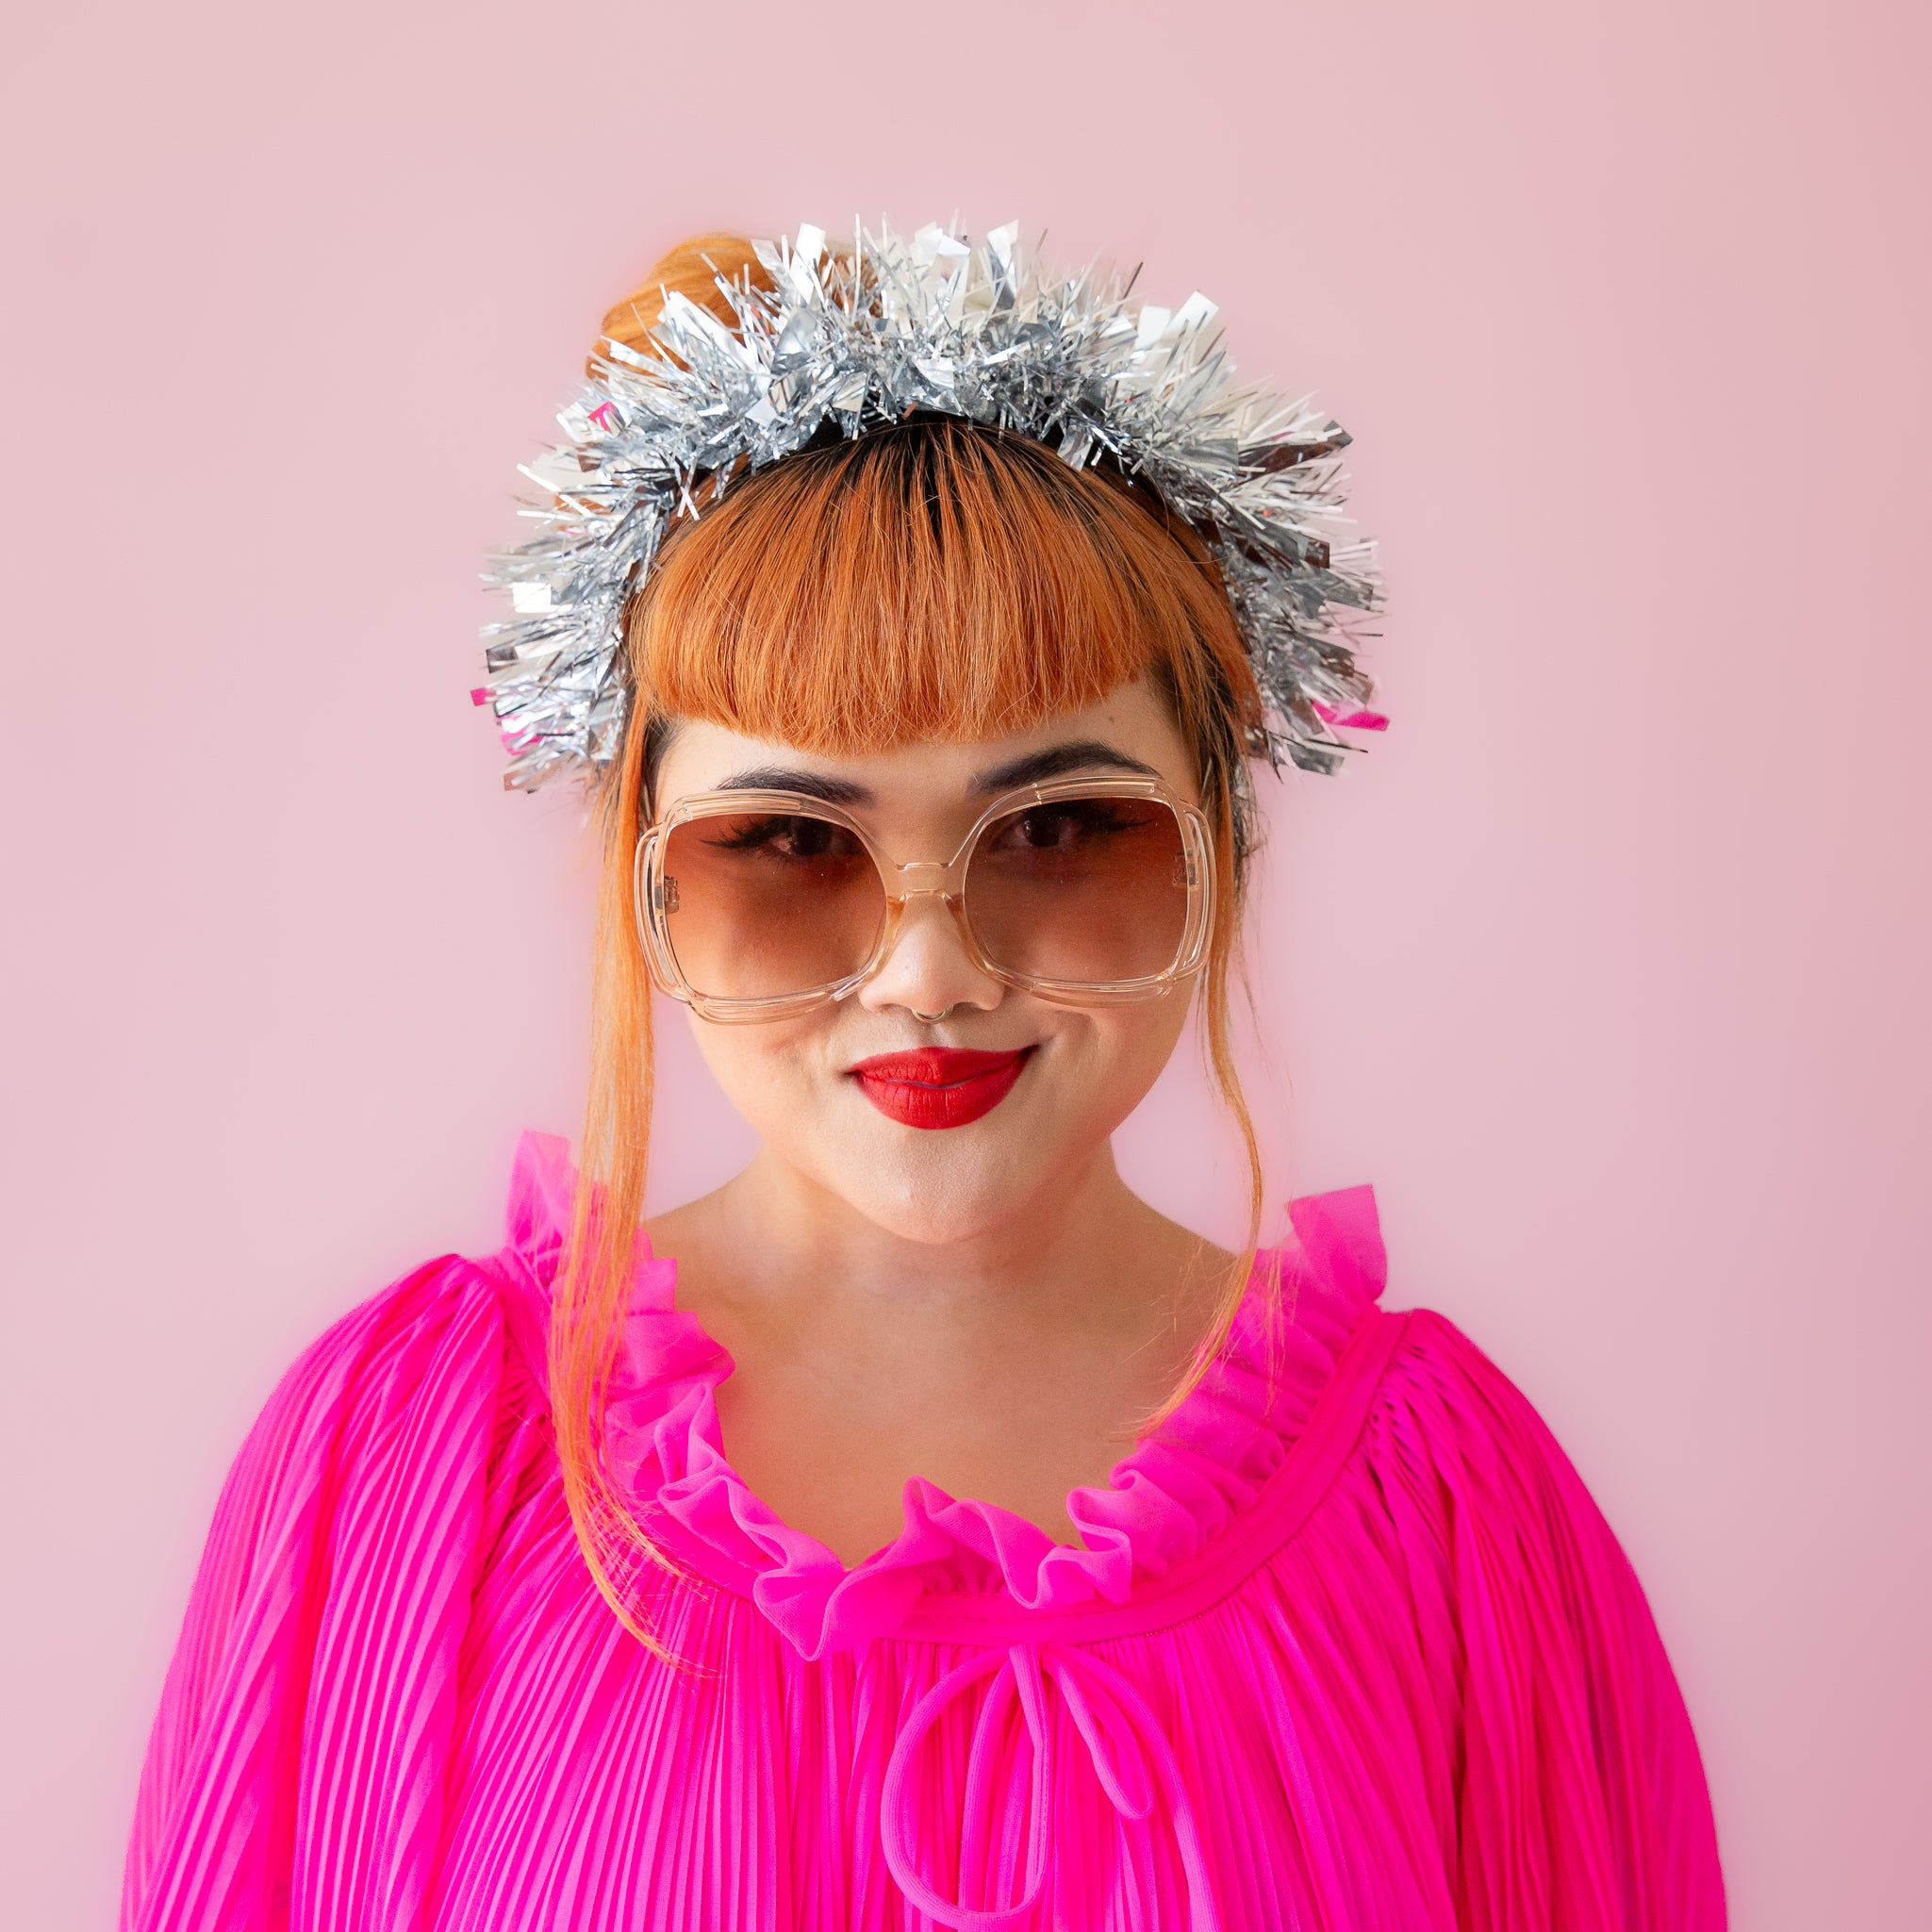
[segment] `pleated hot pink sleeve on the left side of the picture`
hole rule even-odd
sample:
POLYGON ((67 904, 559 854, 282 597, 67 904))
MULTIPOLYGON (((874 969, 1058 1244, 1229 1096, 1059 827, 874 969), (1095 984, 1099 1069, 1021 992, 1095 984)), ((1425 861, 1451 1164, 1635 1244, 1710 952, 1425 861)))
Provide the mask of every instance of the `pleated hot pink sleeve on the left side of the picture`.
POLYGON ((444 1260, 284 1378, 195 1578, 124 1932, 415 1924, 512 1364, 497 1289, 444 1260))

